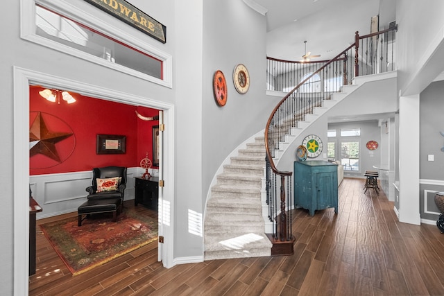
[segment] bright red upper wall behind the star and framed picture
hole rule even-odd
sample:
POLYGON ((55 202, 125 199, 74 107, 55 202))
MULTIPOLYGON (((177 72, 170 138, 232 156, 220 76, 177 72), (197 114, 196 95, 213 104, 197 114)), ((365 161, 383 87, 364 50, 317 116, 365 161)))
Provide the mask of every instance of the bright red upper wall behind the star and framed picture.
POLYGON ((43 87, 30 87, 30 122, 37 112, 50 132, 71 132, 74 136, 55 143, 61 162, 42 153, 30 157, 30 175, 89 171, 100 166, 139 166, 140 160, 148 151, 153 160, 153 136, 151 128, 158 121, 142 121, 135 110, 144 116, 157 115, 158 110, 126 105, 99 98, 90 98, 71 93, 76 103, 68 104, 60 98, 52 103, 40 96, 43 87), (97 134, 117 134, 126 136, 126 153, 96 154, 97 134))

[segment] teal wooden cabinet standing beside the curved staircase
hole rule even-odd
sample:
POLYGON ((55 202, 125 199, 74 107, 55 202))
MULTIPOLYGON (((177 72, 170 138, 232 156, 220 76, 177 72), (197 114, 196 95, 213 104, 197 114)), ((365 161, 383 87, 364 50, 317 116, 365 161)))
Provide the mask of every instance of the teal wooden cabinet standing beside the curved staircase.
POLYGON ((308 209, 334 207, 338 213, 338 166, 323 160, 294 162, 294 204, 308 209))

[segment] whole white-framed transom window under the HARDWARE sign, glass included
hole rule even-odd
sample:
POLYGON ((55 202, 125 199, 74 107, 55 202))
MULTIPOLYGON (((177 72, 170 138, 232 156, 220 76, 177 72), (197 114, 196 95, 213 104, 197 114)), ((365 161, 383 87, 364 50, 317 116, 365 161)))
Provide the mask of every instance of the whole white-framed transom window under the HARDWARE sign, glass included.
MULTIPOLYGON (((172 56, 124 28, 92 18, 70 1, 20 0, 24 40, 173 87, 172 56)), ((126 24, 124 26, 127 26, 126 24)))

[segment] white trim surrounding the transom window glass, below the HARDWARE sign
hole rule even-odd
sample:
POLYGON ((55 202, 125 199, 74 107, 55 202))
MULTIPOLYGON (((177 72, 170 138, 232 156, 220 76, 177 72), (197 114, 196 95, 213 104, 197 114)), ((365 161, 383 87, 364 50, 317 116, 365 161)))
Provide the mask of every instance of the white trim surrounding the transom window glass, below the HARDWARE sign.
MULTIPOLYGON (((131 36, 127 32, 122 31, 120 28, 115 26, 111 26, 110 24, 105 23, 105 21, 97 20, 97 17, 94 15, 90 15, 89 13, 81 10, 77 6, 74 6, 71 3, 66 2, 65 0, 20 0, 20 37, 24 40, 28 40, 30 42, 34 42, 36 44, 40 44, 42 46, 49 47, 51 49, 56 49, 57 51, 61 51, 63 53, 68 53, 69 55, 74 55, 77 58, 82 58, 83 60, 87 60, 89 62, 94 62, 96 64, 101 64, 104 67, 108 67, 110 69, 114 69, 116 71, 120 71, 123 73, 127 73, 128 75, 135 76, 137 78, 141 78, 144 80, 148 80, 157 85, 162 85, 164 87, 173 88, 173 58, 168 53, 164 51, 160 51, 160 49, 155 48, 151 44, 143 42, 139 40, 137 37, 131 36), (46 8, 59 12, 61 15, 65 17, 69 17, 78 21, 80 24, 84 24, 89 28, 94 28, 101 33, 112 37, 116 40, 123 42, 129 46, 132 46, 134 49, 142 51, 148 55, 157 58, 162 61, 162 73, 163 79, 155 78, 153 76, 149 76, 145 73, 136 71, 134 69, 130 69, 128 67, 124 67, 120 64, 115 64, 112 62, 108 62, 108 60, 104 60, 103 58, 96 57, 94 55, 90 55, 89 53, 85 53, 78 49, 74 49, 65 44, 58 43, 53 40, 46 39, 45 37, 37 35, 35 32, 35 3, 38 3, 46 8)), ((86 3, 88 4, 88 3, 86 3)))

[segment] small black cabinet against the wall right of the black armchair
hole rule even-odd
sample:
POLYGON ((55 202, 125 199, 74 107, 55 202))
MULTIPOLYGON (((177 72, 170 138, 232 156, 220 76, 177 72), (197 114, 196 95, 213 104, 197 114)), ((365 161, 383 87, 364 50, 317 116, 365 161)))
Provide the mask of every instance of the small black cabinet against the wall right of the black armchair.
POLYGON ((157 200, 159 197, 159 177, 150 177, 144 179, 142 177, 135 177, 135 199, 134 203, 140 202, 148 209, 157 211, 157 200))

